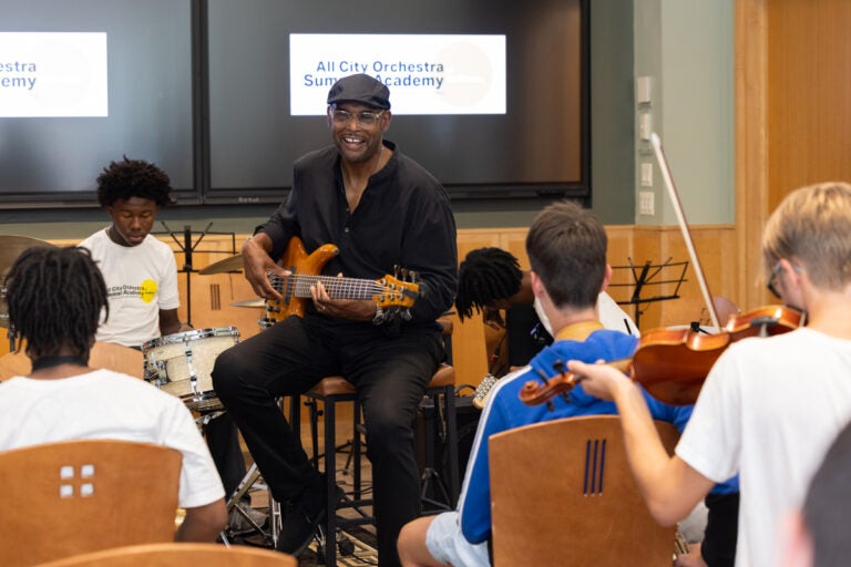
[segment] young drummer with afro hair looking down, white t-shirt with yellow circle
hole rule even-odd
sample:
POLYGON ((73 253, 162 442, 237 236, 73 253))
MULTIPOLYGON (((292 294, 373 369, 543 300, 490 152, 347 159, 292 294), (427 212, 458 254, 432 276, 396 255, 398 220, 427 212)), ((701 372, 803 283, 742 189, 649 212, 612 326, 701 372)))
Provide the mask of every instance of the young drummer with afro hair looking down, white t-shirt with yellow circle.
MULTIPOLYGON (((91 250, 106 282, 109 320, 101 322, 96 340, 139 349, 161 336, 192 330, 177 317, 177 264, 165 243, 151 236, 160 208, 172 203, 168 175, 143 159, 111 162, 98 177, 98 200, 112 223, 80 243, 91 250)), ((204 435, 229 496, 246 473, 239 436, 228 414, 209 420, 204 435)), ((266 515, 244 508, 256 524, 266 515)), ((250 529, 236 509, 234 532, 250 529)))

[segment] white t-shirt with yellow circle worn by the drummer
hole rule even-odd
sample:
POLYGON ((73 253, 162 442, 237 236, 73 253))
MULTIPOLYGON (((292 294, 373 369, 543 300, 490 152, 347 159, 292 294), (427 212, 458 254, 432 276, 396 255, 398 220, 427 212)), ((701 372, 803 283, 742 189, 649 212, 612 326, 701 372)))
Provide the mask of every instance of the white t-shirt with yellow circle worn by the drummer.
POLYGON ((177 262, 164 243, 147 235, 139 246, 113 243, 99 230, 80 246, 89 248, 106 282, 110 318, 95 340, 140 347, 160 337, 160 310, 177 309, 177 262))

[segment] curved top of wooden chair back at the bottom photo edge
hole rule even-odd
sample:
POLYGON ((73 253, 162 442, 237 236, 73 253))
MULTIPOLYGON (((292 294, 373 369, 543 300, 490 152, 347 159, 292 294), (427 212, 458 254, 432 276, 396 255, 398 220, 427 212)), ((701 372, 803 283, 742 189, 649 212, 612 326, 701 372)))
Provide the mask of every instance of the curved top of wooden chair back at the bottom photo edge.
POLYGON ((297 567, 291 555, 248 546, 148 544, 116 547, 59 559, 40 567, 297 567))

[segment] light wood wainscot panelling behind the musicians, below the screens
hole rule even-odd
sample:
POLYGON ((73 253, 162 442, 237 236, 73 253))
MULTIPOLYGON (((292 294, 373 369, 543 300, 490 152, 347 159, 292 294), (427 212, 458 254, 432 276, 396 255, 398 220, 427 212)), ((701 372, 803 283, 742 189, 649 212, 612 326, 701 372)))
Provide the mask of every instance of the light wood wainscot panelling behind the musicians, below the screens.
MULTIPOLYGON (((688 260, 683 237, 676 227, 611 226, 606 229, 609 236, 608 261, 613 266, 627 266, 630 260, 637 267, 646 261, 655 265, 668 259, 674 262, 688 260)), ((694 227, 691 234, 709 289, 714 295, 725 296, 736 301, 736 270, 731 255, 728 254, 735 247, 736 230, 731 226, 700 226, 694 227)), ((247 235, 237 235, 237 241, 242 243, 246 237, 247 235)), ((521 267, 529 269, 525 237, 526 228, 461 229, 458 234, 459 259, 463 259, 474 248, 498 246, 514 254, 520 259, 521 267)), ((163 241, 175 249, 177 267, 181 269, 184 265, 184 256, 178 251, 177 244, 166 238, 163 238, 163 241)), ((53 243, 73 245, 76 240, 53 240, 53 243)), ((199 270, 228 258, 232 256, 232 250, 230 237, 208 235, 193 254, 193 268, 199 270)), ((660 272, 658 277, 669 279, 668 276, 670 274, 660 272)), ((182 320, 187 320, 191 316, 196 329, 235 326, 243 339, 260 332, 257 320, 263 317, 262 308, 232 306, 234 302, 255 299, 254 291, 242 272, 202 276, 196 271, 189 274, 182 271, 178 280, 181 286, 178 312, 182 320), (189 310, 187 306, 191 306, 189 310)), ((634 290, 633 282, 630 270, 616 269, 613 284, 624 286, 613 286, 609 293, 617 301, 628 301, 634 290)), ((646 290, 647 293, 642 293, 642 297, 668 296, 675 292, 673 285, 648 287, 646 290)), ((678 299, 642 306, 640 328, 647 330, 700 319, 705 302, 690 267, 678 296, 678 299)), ((625 306, 624 309, 635 318, 634 306, 625 306)), ((466 319, 463 323, 457 315, 452 317, 453 363, 458 383, 476 385, 488 371, 485 328, 481 316, 466 319)), ((8 352, 8 346, 3 352, 8 352)))

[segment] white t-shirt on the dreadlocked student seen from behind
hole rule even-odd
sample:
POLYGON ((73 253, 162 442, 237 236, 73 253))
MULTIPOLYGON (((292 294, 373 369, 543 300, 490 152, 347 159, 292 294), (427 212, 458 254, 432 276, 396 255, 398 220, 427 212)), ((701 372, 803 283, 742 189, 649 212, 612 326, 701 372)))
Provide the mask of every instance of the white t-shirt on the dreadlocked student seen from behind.
POLYGON ((181 507, 225 496, 189 410, 143 380, 95 370, 57 380, 16 377, 0 384, 0 451, 79 439, 136 441, 180 451, 181 507))

